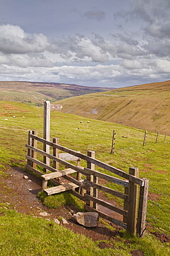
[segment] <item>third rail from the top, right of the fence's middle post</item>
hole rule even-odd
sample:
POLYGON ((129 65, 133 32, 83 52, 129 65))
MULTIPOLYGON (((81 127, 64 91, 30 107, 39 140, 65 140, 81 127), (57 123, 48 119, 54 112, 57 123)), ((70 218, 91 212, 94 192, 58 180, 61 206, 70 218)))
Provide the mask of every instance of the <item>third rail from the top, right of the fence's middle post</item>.
POLYGON ((89 185, 90 187, 97 188, 98 190, 101 190, 101 191, 106 192, 108 194, 112 194, 113 196, 117 196, 117 197, 119 197, 121 199, 128 199, 127 194, 123 194, 123 193, 118 192, 116 190, 112 190, 111 188, 107 188, 107 187, 105 187, 103 185, 96 184, 96 183, 94 183, 92 181, 85 180, 85 185, 89 185))

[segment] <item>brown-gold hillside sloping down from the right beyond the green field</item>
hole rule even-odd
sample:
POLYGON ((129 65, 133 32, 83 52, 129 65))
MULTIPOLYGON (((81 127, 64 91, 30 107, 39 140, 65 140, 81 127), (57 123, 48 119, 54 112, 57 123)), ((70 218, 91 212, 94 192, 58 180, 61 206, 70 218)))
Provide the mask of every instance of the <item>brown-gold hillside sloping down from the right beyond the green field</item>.
POLYGON ((60 100, 64 113, 170 134, 170 80, 60 100))

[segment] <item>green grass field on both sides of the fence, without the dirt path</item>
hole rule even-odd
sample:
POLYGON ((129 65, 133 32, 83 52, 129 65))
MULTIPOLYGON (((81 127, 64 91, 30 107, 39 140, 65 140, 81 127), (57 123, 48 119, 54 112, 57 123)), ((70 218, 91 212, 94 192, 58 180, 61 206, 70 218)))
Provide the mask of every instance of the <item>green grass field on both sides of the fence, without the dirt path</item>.
MULTIPOLYGON (((39 136, 43 136, 43 108, 1 101, 0 126, 0 176, 4 177, 10 167, 25 168, 28 131, 36 130, 39 136)), ((149 132, 147 144, 143 147, 145 131, 142 129, 58 111, 51 111, 50 126, 51 140, 59 137, 61 145, 83 154, 87 154, 87 150, 94 150, 98 160, 125 172, 129 172, 129 167, 138 167, 140 178, 149 179, 147 235, 139 239, 129 237, 123 231, 121 241, 113 241, 114 248, 100 249, 99 241, 75 235, 56 223, 19 214, 3 200, 0 201, 0 255, 23 255, 23 251, 24 255, 29 256, 131 255, 131 250, 142 250, 145 256, 169 255, 169 243, 161 243, 152 233, 170 235, 170 137, 167 136, 164 141, 164 136, 160 135, 156 144, 156 134, 149 132), (115 152, 111 154, 113 130, 116 130, 116 144, 115 152), (125 243, 127 240, 130 244, 125 243)), ((116 185, 107 185, 118 189, 116 185)))

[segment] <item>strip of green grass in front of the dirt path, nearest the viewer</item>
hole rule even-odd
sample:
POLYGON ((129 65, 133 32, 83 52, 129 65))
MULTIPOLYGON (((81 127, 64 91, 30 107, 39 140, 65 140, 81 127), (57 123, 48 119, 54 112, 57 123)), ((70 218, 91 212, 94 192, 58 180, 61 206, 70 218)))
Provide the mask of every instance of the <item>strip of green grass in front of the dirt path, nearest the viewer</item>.
POLYGON ((75 235, 70 230, 53 221, 33 218, 13 210, 0 208, 0 249, 1 255, 131 255, 131 250, 142 250, 146 256, 166 255, 166 249, 154 237, 131 239, 122 232, 121 239, 105 241, 113 248, 98 248, 99 241, 93 242, 83 235, 75 235), (129 240, 130 239, 130 240, 129 240), (130 242, 128 242, 130 241, 130 242))

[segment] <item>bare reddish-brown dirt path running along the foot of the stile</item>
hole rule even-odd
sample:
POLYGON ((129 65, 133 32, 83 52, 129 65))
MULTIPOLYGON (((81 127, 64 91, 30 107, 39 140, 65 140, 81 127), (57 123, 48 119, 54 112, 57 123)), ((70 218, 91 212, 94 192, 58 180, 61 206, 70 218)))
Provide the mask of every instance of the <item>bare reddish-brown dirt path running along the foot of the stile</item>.
POLYGON ((115 236, 121 236, 119 232, 121 228, 114 226, 113 223, 108 222, 109 225, 114 226, 114 231, 106 228, 101 222, 99 222, 96 228, 85 228, 75 223, 72 220, 72 214, 76 212, 76 209, 73 209, 74 207, 72 208, 71 205, 67 205, 67 207, 62 206, 57 210, 45 207, 37 197, 37 194, 41 191, 41 181, 31 174, 23 172, 20 168, 10 169, 6 174, 8 174, 8 177, 1 179, 3 181, 3 188, 1 190, 0 200, 3 203, 8 203, 10 208, 13 208, 17 212, 48 220, 63 217, 67 220, 68 224, 62 223, 61 225, 75 233, 83 234, 94 241, 109 240, 115 236), (24 176, 28 176, 28 179, 24 179, 24 176), (45 212, 46 216, 42 216, 42 212, 45 212))

